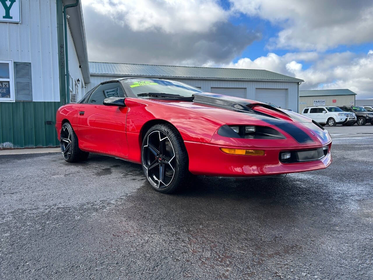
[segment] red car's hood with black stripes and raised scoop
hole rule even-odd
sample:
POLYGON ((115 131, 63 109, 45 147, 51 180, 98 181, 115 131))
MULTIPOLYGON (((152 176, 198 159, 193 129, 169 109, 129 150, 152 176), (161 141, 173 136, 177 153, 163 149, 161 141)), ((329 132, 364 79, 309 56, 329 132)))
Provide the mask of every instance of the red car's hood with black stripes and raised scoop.
POLYGON ((271 126, 280 129, 285 136, 291 136, 298 144, 323 145, 331 141, 329 133, 312 119, 254 100, 214 93, 198 93, 194 94, 193 102, 159 99, 157 102, 188 108, 222 125, 271 126))

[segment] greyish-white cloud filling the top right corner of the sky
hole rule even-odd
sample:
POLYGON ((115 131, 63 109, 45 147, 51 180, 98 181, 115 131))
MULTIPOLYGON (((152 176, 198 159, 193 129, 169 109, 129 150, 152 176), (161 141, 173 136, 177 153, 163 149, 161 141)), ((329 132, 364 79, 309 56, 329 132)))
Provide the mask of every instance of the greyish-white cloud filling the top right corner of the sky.
POLYGON ((373 41, 373 1, 230 0, 236 13, 258 16, 283 29, 269 49, 325 51, 373 41))

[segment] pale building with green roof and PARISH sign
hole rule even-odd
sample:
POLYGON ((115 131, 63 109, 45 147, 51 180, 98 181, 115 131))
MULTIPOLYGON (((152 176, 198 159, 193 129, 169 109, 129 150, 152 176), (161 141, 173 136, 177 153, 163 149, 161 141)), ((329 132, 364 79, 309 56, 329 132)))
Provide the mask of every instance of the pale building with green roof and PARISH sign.
POLYGON ((336 90, 300 90, 299 112, 308 106, 344 106, 355 105, 356 93, 349 89, 336 90))

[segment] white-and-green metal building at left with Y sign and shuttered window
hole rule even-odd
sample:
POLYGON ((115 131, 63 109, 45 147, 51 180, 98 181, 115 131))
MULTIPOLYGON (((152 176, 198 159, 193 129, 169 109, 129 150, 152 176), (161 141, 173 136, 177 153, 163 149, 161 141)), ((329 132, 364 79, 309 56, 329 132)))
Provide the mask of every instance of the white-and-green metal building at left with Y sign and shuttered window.
POLYGON ((81 4, 1 1, 0 34, 0 149, 58 145, 57 109, 90 83, 81 4))

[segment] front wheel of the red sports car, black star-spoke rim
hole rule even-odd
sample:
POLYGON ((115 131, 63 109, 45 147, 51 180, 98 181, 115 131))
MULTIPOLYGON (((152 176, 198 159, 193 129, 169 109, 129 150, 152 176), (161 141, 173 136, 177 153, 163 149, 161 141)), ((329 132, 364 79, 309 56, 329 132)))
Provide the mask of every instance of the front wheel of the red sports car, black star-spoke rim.
POLYGON ((141 165, 150 186, 158 192, 176 192, 188 181, 188 153, 172 125, 157 124, 147 131, 141 146, 141 165))

